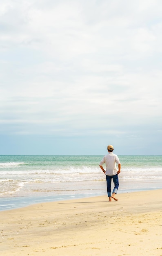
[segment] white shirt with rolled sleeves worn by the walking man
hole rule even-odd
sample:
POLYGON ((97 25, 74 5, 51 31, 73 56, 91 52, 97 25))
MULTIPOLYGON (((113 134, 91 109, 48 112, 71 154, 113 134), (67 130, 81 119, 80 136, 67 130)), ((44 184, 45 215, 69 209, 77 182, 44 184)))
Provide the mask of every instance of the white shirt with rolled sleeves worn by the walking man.
POLYGON ((102 158, 100 165, 102 166, 104 163, 106 163, 106 175, 117 174, 116 163, 120 164, 120 160, 117 155, 115 155, 113 152, 110 152, 108 155, 105 155, 102 158))

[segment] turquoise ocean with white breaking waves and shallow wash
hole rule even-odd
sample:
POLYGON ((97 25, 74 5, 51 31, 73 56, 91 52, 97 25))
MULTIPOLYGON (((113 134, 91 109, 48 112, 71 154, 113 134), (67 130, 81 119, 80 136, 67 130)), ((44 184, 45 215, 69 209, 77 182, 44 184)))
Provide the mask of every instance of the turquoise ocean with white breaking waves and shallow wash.
MULTIPOLYGON (((0 155, 0 211, 107 195, 103 155, 0 155)), ((118 193, 162 189, 161 155, 118 155, 118 193)))

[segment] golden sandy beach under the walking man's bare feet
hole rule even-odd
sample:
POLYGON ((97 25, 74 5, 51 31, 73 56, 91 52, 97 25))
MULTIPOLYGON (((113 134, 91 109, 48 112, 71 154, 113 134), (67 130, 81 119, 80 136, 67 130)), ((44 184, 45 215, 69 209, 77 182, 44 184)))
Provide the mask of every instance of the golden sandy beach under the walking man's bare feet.
POLYGON ((0 212, 3 256, 162 256, 162 190, 0 212))

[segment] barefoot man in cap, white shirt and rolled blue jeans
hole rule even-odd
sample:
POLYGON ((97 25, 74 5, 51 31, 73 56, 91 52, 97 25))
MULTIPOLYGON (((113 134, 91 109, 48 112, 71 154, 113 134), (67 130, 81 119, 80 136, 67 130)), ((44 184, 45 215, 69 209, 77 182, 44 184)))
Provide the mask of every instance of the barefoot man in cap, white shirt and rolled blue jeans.
POLYGON ((113 198, 115 201, 118 201, 118 199, 115 198, 115 194, 117 193, 118 187, 119 187, 118 174, 120 173, 121 164, 120 164, 120 160, 119 160, 118 156, 113 153, 113 146, 112 145, 107 146, 107 150, 108 150, 109 154, 105 155, 103 157, 102 161, 100 162, 100 168, 104 172, 104 174, 106 174, 107 194, 109 197, 109 201, 110 202, 112 201, 111 198, 113 198), (106 171, 102 167, 102 165, 104 163, 106 164, 106 171), (116 168, 116 163, 118 164, 118 171, 116 168), (113 189, 113 193, 111 195, 111 180, 112 179, 113 179, 113 183, 114 183, 114 189, 113 189))

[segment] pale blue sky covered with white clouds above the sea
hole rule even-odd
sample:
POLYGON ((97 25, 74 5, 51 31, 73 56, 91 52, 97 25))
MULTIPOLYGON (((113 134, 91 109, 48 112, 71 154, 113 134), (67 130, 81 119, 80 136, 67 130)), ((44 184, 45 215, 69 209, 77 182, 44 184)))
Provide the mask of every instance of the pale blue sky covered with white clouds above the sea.
POLYGON ((0 155, 162 155, 161 0, 0 5, 0 155))

